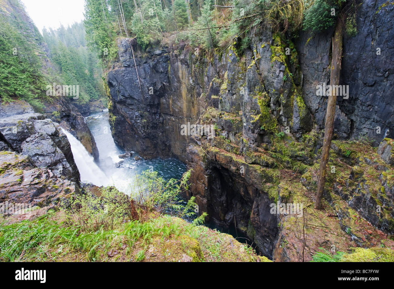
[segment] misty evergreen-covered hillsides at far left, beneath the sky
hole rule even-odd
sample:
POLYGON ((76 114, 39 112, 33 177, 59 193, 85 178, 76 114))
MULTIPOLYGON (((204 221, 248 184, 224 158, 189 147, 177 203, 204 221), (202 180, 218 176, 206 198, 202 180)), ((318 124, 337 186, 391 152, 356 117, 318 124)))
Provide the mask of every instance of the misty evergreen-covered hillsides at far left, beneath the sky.
MULTIPOLYGON (((56 97, 47 85, 79 85, 77 102, 104 95, 97 56, 87 50, 82 23, 43 35, 19 0, 0 2, 0 97, 19 97, 36 110, 56 97), (47 46, 48 44, 48 46, 47 46), (49 49, 48 49, 49 48, 49 49)), ((72 98, 72 96, 70 96, 72 98)))

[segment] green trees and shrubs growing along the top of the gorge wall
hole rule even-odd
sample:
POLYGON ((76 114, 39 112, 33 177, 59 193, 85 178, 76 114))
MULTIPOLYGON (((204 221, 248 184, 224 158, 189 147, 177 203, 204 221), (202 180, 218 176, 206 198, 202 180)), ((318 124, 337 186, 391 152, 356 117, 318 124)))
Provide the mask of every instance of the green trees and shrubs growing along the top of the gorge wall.
MULTIPOLYGON (((334 24, 344 0, 86 0, 88 44, 100 58, 116 58, 115 38, 136 37, 142 48, 162 41, 200 48, 228 48, 234 41, 245 50, 248 32, 269 26, 292 37, 302 27, 323 31, 334 24), (332 9, 336 13, 332 14, 332 9), (304 17, 305 16, 305 17, 304 17), (111 51, 104 54, 104 51, 111 51)), ((349 1, 350 2, 350 1, 349 1)), ((355 11, 352 10, 354 14, 355 11)), ((355 23, 349 21, 355 26, 355 23)))

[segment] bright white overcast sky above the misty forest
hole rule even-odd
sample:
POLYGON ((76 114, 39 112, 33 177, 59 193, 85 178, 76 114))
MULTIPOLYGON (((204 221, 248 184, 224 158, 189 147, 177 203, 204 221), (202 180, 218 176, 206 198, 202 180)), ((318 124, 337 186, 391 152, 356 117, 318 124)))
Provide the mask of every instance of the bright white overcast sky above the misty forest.
POLYGON ((41 31, 52 27, 65 28, 84 19, 84 0, 21 0, 35 26, 41 31))

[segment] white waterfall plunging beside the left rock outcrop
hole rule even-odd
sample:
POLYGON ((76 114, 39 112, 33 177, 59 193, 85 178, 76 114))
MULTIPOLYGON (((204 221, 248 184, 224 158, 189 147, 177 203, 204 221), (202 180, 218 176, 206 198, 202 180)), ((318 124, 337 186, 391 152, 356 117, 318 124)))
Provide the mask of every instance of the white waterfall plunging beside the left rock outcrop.
POLYGON ((63 128, 61 130, 67 136, 67 139, 69 139, 72 155, 81 175, 81 181, 93 183, 99 187, 109 185, 110 180, 108 180, 104 172, 97 166, 93 156, 87 152, 82 143, 63 128))

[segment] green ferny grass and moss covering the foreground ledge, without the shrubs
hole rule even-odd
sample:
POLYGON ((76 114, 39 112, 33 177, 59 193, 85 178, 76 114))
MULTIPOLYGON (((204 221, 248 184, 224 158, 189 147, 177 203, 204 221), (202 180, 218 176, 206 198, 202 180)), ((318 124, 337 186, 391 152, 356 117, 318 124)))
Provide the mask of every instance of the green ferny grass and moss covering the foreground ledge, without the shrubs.
MULTIPOLYGON (((180 218, 120 223, 84 232, 64 222, 64 211, 0 226, 0 261, 257 261, 233 237, 180 218), (186 257, 185 257, 186 256, 186 257)), ((269 261, 266 258, 265 261, 269 261)))

